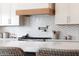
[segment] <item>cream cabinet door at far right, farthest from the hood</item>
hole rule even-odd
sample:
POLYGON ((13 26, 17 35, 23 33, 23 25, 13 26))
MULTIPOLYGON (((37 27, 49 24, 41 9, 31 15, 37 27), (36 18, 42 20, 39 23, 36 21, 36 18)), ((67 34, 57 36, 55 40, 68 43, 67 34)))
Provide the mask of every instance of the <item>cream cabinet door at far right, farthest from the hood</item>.
POLYGON ((79 3, 70 4, 70 24, 79 24, 79 3))

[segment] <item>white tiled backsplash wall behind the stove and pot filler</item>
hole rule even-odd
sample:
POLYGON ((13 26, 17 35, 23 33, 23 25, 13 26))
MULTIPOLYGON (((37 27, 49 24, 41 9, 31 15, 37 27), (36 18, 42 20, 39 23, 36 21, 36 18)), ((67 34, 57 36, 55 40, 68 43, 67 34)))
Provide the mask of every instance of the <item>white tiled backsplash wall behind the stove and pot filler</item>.
POLYGON ((71 35, 73 40, 79 39, 79 25, 55 25, 55 16, 33 15, 24 17, 23 24, 16 27, 0 27, 1 32, 15 33, 17 37, 29 33, 30 36, 53 37, 53 30, 60 31, 60 38, 71 35), (47 32, 38 30, 38 27, 49 26, 47 32))

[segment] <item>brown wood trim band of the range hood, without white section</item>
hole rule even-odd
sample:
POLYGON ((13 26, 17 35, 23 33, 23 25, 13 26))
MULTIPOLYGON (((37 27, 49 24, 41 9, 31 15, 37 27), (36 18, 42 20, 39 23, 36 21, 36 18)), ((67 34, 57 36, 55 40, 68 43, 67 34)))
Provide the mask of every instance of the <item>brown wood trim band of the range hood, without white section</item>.
POLYGON ((36 15, 36 14, 55 14, 55 4, 49 4, 48 8, 28 9, 28 10, 16 10, 16 15, 36 15))

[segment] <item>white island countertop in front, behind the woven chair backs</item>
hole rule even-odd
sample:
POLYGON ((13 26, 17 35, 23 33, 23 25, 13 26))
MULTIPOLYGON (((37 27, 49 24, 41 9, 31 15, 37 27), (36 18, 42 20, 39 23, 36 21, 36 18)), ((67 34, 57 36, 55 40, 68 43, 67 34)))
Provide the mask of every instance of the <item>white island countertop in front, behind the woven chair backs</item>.
POLYGON ((0 47, 19 47, 27 52, 37 52, 40 48, 53 49, 79 49, 79 41, 51 41, 51 42, 34 42, 34 41, 2 41, 0 47))

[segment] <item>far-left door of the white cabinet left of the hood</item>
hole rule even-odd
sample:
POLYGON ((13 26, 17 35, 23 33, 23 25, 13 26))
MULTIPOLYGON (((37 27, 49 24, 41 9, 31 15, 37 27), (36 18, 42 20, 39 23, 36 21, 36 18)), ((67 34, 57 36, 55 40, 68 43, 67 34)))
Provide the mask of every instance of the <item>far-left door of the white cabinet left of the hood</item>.
POLYGON ((1 5, 1 12, 2 12, 2 14, 1 14, 1 16, 2 16, 2 25, 6 26, 6 25, 11 24, 10 4, 3 3, 1 5))

